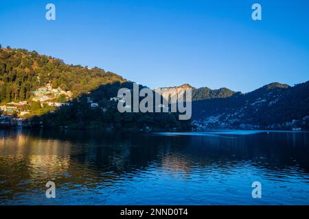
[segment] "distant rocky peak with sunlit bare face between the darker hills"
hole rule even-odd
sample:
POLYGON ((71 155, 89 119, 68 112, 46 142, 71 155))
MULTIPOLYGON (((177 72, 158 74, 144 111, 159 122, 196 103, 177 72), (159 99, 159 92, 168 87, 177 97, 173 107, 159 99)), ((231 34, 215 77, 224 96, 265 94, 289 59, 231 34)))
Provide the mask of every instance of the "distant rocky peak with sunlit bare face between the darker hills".
POLYGON ((192 101, 201 101, 205 99, 215 99, 215 98, 226 98, 229 96, 233 96, 235 92, 233 90, 229 90, 228 88, 220 88, 217 90, 211 90, 210 88, 194 88, 189 83, 185 83, 181 86, 168 87, 168 88, 157 88, 155 92, 159 92, 161 90, 162 96, 166 99, 172 99, 172 96, 176 94, 181 94, 179 92, 180 89, 192 89, 192 101))

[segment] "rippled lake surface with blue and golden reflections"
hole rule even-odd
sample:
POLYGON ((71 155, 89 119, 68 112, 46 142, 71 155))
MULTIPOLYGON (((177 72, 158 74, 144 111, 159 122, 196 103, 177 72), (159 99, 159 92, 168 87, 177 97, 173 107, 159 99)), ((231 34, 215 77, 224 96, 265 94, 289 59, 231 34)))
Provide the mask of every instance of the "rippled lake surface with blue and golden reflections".
POLYGON ((0 204, 309 205, 309 133, 0 130, 0 204))

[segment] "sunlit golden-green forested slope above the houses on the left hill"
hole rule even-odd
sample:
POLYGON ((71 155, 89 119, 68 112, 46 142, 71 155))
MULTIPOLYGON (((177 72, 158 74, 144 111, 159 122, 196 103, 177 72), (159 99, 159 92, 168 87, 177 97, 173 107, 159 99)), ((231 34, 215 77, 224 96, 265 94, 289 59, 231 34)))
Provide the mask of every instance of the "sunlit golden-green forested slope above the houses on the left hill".
POLYGON ((53 88, 78 96, 115 81, 126 80, 101 68, 65 64, 36 51, 0 49, 0 103, 28 100, 34 90, 49 82, 53 88))

